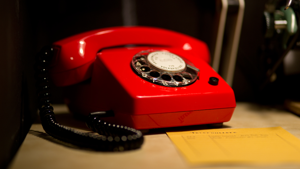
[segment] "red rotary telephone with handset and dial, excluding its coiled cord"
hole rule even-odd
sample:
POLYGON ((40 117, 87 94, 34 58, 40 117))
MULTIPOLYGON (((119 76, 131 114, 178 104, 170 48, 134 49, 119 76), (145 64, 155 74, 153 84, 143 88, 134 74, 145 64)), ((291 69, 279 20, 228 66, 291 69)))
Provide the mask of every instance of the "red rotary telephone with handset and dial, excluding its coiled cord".
POLYGON ((236 107, 233 90, 208 64, 207 45, 188 35, 113 27, 59 40, 52 48, 51 79, 72 89, 67 104, 73 113, 111 110, 114 116, 103 119, 141 130, 223 123, 236 107), (156 56, 161 67, 150 63, 156 56), (208 83, 210 77, 219 79, 217 85, 208 83))

